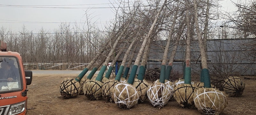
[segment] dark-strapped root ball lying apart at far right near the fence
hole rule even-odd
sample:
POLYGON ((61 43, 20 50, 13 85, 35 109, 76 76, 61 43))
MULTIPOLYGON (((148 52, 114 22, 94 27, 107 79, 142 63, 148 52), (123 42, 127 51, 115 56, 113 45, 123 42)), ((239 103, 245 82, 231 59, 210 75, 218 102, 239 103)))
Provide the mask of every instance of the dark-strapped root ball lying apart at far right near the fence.
POLYGON ((245 83, 239 77, 228 77, 223 84, 224 91, 228 96, 240 96, 243 94, 245 83))

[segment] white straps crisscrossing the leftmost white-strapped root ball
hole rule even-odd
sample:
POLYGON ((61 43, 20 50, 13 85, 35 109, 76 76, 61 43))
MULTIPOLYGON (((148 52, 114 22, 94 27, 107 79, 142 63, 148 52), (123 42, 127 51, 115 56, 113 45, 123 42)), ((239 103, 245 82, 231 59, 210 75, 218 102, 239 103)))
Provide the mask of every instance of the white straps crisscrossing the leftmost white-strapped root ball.
MULTIPOLYGON (((116 91, 114 91, 114 98, 116 98, 117 100, 121 100, 120 99, 120 96, 123 94, 123 92, 126 90, 126 92, 127 92, 127 95, 126 96, 128 96, 126 99, 124 99, 124 100, 121 100, 121 101, 117 101, 117 102, 115 102, 116 104, 120 104, 120 103, 122 103, 122 104, 125 104, 125 105, 127 105, 127 108, 130 108, 130 107, 132 107, 132 105, 129 105, 129 103, 137 103, 136 101, 138 101, 139 100, 139 95, 138 95, 138 92, 137 92, 137 90, 135 89, 135 88, 133 88, 130 84, 127 84, 127 83, 119 83, 119 84, 117 84, 115 87, 114 87, 114 89, 116 89, 118 92, 120 92, 120 94, 118 95, 118 96, 116 96, 116 91), (119 85, 125 85, 125 87, 122 89, 122 91, 120 91, 119 89, 118 89, 118 86, 119 85), (128 91, 128 87, 130 87, 131 89, 133 89, 134 90, 134 94, 132 95, 132 96, 135 96, 135 97, 138 97, 138 98, 133 98, 134 100, 130 100, 130 95, 129 95, 129 91, 128 91)), ((131 97, 132 97, 131 96, 131 97)), ((116 100, 115 99, 115 100, 116 100)))

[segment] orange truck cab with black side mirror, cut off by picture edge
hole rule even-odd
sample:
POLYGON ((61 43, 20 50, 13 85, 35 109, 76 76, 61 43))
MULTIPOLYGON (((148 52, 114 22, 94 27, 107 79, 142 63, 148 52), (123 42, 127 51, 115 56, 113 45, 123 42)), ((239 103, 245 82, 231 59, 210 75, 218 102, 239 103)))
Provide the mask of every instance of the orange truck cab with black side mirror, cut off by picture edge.
POLYGON ((25 115, 27 113, 27 85, 32 81, 32 71, 24 70, 18 52, 7 51, 0 41, 0 115, 25 115))

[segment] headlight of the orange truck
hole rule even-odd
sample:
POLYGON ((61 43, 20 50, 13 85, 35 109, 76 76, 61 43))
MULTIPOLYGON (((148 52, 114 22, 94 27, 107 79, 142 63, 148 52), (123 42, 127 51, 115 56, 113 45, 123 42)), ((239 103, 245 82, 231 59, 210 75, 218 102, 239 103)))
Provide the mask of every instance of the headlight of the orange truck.
POLYGON ((26 101, 23 101, 17 104, 12 104, 9 109, 9 115, 15 115, 15 114, 21 113, 25 110, 25 107, 26 107, 26 101))

